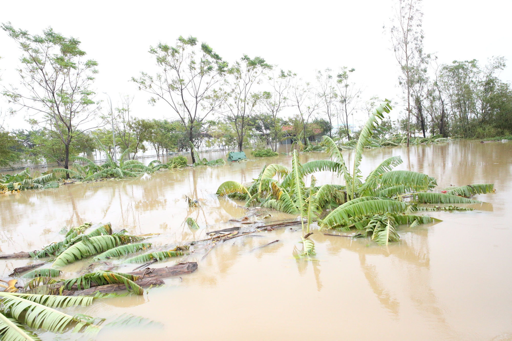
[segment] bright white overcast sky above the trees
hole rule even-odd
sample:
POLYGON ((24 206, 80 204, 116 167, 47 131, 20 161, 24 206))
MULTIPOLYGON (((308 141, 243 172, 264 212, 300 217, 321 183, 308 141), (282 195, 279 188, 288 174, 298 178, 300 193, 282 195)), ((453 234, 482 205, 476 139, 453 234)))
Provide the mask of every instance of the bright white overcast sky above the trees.
MULTIPOLYGON (((51 26, 78 38, 88 57, 99 63, 98 94, 110 94, 114 105, 119 94, 135 95, 135 116, 168 118, 168 108, 148 105, 148 96, 128 80, 140 71, 155 70, 147 53, 150 45, 160 41, 174 45, 180 35, 207 42, 230 63, 244 53, 261 56, 311 82, 315 70, 355 68, 353 80, 365 89, 362 99, 373 95, 398 99, 398 67, 389 50, 389 34, 382 29, 389 24, 392 4, 391 0, 88 1, 63 6, 11 1, 3 2, 0 22, 32 34, 51 26)), ((436 52, 440 62, 476 58, 483 65, 487 57, 500 55, 512 63, 507 33, 512 2, 424 0, 422 8, 425 52, 436 52)), ((16 84, 14 68, 20 51, 4 31, 0 31, 0 56, 1 83, 16 84)), ((511 70, 507 68, 501 78, 512 80, 511 70)), ((8 107, 5 98, 0 99, 4 112, 8 107)), ((363 119, 366 114, 358 115, 363 119)), ((10 129, 27 128, 23 119, 19 114, 6 123, 10 129)))

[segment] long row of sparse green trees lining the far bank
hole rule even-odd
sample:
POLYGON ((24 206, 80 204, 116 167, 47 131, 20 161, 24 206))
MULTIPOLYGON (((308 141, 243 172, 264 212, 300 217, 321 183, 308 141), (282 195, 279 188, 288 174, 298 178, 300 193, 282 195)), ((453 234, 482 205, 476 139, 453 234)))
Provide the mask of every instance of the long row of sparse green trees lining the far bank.
MULTIPOLYGON (((498 77, 505 59, 491 58, 483 67, 477 60, 438 65, 433 54, 423 53, 416 0, 404 4, 397 2, 390 34, 403 90, 393 105, 405 105, 406 111, 398 120, 385 121, 389 136, 403 134, 409 143, 408 137, 417 135, 510 135, 512 91, 498 77)), ((121 96, 113 105, 110 97, 105 102, 105 96, 91 90, 98 63, 84 57, 77 39, 51 28, 40 35, 10 23, 2 28, 22 50, 19 86, 4 84, 12 108, 4 114, 23 110, 31 115, 32 128, 7 131, 0 126, 0 166, 25 159, 68 168, 70 157, 95 153, 98 141, 112 155, 130 148, 132 158, 149 146, 157 155, 191 150, 193 162, 194 150, 212 145, 239 150, 270 145, 275 152, 288 136, 305 141, 322 134, 344 143, 357 137, 358 121, 383 100, 361 97, 360 86, 352 81, 354 69, 317 71, 310 82, 258 56, 228 63, 205 42, 180 36, 174 45, 151 48, 156 73, 131 78, 150 105, 161 103, 162 116, 174 117, 150 120, 131 112, 133 96, 121 96)))

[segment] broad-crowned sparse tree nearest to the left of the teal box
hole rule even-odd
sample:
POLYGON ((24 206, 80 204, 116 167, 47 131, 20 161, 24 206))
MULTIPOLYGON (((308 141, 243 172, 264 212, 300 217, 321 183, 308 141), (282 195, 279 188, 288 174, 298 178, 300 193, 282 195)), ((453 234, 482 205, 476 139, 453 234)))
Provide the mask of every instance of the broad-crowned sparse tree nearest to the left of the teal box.
MULTIPOLYGON (((197 44, 195 37, 180 36, 174 47, 162 43, 151 47, 160 72, 156 76, 142 72, 132 81, 151 94, 151 104, 158 100, 167 103, 185 127, 189 143, 199 147, 195 129, 223 102, 225 94, 215 87, 223 80, 228 64, 205 42, 199 48, 197 44)), ((191 157, 196 162, 193 150, 191 157)))

